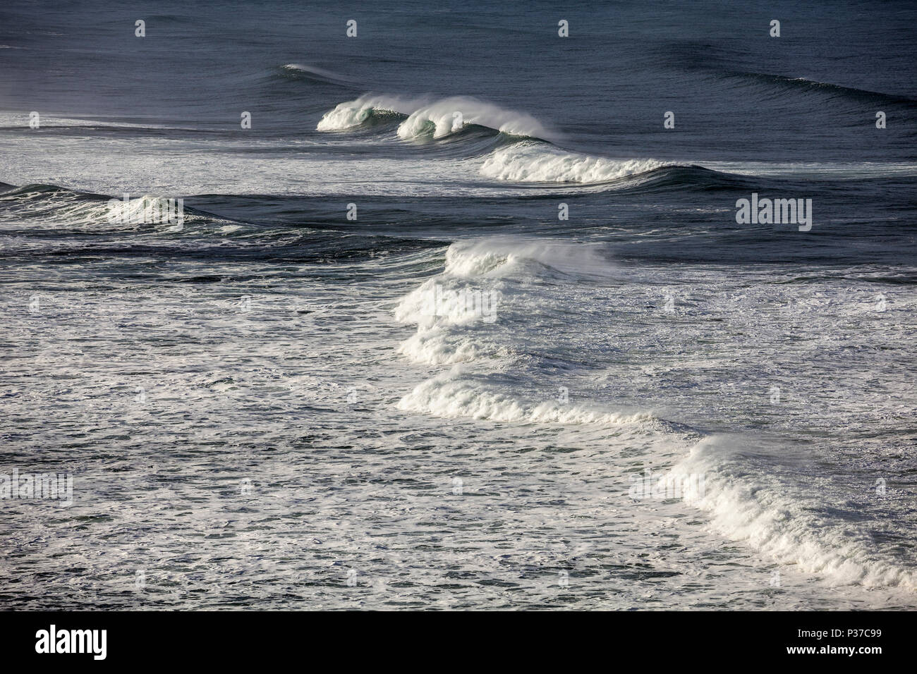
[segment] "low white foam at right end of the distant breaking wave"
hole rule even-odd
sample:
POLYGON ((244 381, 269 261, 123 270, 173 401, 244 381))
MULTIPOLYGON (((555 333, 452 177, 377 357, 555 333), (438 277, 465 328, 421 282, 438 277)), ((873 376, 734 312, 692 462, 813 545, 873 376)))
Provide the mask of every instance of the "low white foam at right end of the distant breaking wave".
POLYGON ((512 182, 611 182, 674 164, 658 160, 612 160, 567 152, 545 144, 520 143, 496 149, 481 175, 512 182))

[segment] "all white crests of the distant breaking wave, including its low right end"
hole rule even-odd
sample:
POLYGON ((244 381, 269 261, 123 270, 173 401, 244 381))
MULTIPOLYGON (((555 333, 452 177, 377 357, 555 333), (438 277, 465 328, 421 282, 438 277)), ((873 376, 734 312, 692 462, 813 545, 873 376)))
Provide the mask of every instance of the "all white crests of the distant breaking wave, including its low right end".
POLYGON ((611 182, 673 164, 651 160, 613 160, 559 149, 556 135, 525 113, 505 110, 469 96, 435 101, 364 94, 341 103, 322 116, 319 131, 344 131, 379 120, 401 119, 398 137, 404 140, 454 136, 469 126, 492 129, 518 138, 492 151, 481 166, 481 175, 509 182, 611 182))

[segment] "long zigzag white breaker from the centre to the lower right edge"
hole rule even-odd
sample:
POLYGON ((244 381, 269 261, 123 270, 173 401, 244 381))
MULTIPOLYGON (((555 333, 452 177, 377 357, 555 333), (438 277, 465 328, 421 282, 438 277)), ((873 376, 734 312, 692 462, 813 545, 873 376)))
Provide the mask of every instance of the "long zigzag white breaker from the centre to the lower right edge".
MULTIPOLYGON (((414 362, 451 367, 403 395, 397 408, 503 424, 628 426, 649 436, 662 434, 679 446, 691 447, 671 468, 670 476, 704 476, 703 492, 686 493, 684 501, 708 514, 710 528, 722 536, 745 543, 781 565, 819 574, 831 585, 915 589, 911 572, 880 553, 856 522, 826 521, 804 492, 788 490, 768 470, 771 464, 756 464, 744 454, 748 443, 742 437, 708 436, 696 441, 677 430, 669 432, 667 422, 648 411, 525 400, 515 392, 514 378, 506 376, 518 370, 517 358, 525 352, 524 346, 515 345, 512 328, 494 333, 480 317, 458 311, 439 316, 424 313, 425 293, 434 284, 500 287, 505 294, 507 282, 512 282, 517 294, 511 299, 522 300, 525 294, 543 291, 539 286, 546 274, 555 278, 569 274, 568 282, 583 282, 597 274, 602 263, 607 266, 607 261, 594 255, 571 257, 571 249, 518 239, 452 244, 444 271, 405 295, 395 309, 399 321, 417 325, 416 334, 403 342, 399 352, 414 362)), ((582 255, 581 248, 576 254, 582 255)), ((751 456, 762 451, 758 448, 751 456)))

